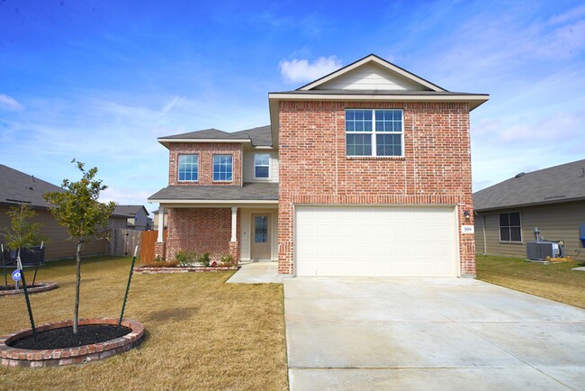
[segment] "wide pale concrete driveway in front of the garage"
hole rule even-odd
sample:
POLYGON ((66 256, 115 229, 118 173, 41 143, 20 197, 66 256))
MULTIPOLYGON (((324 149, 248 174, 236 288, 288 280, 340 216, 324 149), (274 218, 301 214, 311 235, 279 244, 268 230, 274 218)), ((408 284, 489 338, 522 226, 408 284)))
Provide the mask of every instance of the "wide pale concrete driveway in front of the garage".
POLYGON ((295 277, 284 314, 292 390, 585 389, 585 311, 478 280, 295 277))

